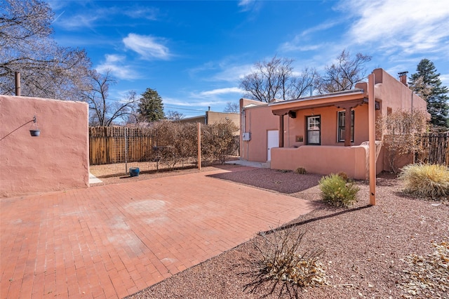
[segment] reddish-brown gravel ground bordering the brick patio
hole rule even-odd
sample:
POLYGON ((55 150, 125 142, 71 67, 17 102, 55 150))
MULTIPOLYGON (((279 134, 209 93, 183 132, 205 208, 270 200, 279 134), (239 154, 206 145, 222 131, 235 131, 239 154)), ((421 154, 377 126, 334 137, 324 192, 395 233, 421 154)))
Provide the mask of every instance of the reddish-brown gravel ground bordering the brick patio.
MULTIPOLYGON (((187 170, 192 171, 197 170, 187 170)), ((257 168, 213 176, 316 202, 314 211, 279 230, 305 232, 301 252, 323 250, 319 261, 327 284, 301 288, 298 298, 449 298, 448 201, 406 197, 400 192, 401 182, 385 173, 377 178, 377 205, 368 206, 368 182, 358 181, 358 202, 351 208, 321 204, 319 175, 257 168)), ((116 180, 125 179, 105 178, 105 183, 116 180)), ((267 298, 289 298, 279 295, 279 286, 269 294, 271 284, 264 284, 257 293, 244 291, 253 278, 242 273, 252 269, 248 259, 257 253, 254 242, 261 238, 255 236, 129 298, 260 298, 267 294, 267 298)))

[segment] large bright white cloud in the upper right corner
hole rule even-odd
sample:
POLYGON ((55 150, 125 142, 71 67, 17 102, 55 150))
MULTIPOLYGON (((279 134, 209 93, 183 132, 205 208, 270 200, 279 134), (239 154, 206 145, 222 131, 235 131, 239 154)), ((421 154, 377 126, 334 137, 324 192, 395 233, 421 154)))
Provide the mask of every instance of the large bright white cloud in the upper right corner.
POLYGON ((407 53, 441 51, 449 39, 449 6, 445 1, 344 1, 339 7, 358 18, 349 39, 358 44, 399 47, 407 53), (343 8, 344 6, 344 8, 343 8))

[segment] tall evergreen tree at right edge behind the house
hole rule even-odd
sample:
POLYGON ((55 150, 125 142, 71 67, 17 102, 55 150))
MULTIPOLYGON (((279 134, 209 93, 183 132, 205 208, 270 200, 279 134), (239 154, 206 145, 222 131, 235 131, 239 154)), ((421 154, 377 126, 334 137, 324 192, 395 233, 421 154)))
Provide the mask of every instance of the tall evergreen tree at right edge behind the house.
POLYGON ((431 124, 448 128, 449 88, 441 86, 440 74, 436 72, 434 62, 422 59, 416 73, 410 77, 410 88, 427 101, 427 111, 431 115, 431 124))

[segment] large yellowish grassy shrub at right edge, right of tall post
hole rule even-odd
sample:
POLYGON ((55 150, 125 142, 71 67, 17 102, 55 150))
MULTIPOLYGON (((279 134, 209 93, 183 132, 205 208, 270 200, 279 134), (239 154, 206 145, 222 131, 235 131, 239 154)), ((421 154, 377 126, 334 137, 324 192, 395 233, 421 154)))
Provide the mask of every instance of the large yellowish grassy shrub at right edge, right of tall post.
POLYGON ((410 164, 401 169, 403 192, 436 200, 449 197, 449 171, 443 165, 410 164))

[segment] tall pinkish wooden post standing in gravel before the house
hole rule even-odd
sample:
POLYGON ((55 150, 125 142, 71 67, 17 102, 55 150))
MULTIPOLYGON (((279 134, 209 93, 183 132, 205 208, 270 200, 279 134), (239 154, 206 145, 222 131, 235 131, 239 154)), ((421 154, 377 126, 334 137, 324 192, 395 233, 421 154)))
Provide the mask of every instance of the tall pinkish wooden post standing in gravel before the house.
POLYGON ((374 74, 368 75, 368 142, 370 168, 370 205, 376 205, 376 117, 375 117, 374 74))

